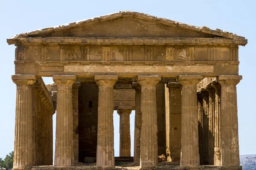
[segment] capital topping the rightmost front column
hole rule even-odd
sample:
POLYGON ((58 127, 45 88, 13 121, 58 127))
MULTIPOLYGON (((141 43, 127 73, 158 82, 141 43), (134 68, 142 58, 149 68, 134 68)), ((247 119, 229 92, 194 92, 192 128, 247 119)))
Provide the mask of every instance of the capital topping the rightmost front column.
POLYGON ((242 76, 239 75, 220 75, 217 77, 217 82, 221 84, 221 86, 226 85, 237 85, 242 76))

